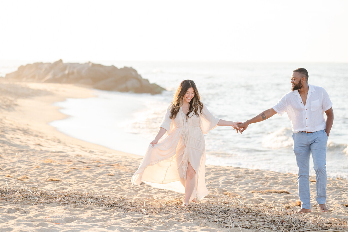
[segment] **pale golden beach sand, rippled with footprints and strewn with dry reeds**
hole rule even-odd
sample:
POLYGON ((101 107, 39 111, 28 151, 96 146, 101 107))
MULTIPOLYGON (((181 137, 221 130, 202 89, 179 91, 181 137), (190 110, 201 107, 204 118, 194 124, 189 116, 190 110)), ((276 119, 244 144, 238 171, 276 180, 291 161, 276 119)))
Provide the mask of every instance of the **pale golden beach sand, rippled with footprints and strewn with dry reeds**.
POLYGON ((289 173, 207 165, 209 195, 189 207, 182 194, 132 186, 141 157, 47 124, 65 117, 52 103, 92 95, 0 78, 0 231, 348 231, 346 179, 328 179, 326 213, 310 182, 313 212, 305 215, 293 213, 300 207, 289 173))

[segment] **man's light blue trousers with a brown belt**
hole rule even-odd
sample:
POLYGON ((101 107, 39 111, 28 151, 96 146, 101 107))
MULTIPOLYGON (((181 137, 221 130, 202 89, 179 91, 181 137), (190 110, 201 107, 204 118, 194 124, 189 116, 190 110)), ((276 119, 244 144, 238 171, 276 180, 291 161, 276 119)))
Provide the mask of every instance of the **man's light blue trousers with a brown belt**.
POLYGON ((299 182, 299 196, 302 202, 301 208, 310 209, 309 192, 309 156, 312 153, 317 186, 317 202, 326 202, 326 144, 327 134, 325 130, 313 133, 293 133, 294 153, 299 167, 297 181, 299 182))

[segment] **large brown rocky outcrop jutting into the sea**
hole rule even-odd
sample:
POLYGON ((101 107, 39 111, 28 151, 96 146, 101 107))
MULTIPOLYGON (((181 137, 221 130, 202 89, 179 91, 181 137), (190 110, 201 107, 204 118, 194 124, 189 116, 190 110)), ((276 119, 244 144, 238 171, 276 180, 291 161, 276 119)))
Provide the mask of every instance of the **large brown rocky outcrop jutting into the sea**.
POLYGON ((164 89, 143 79, 133 68, 88 63, 33 63, 21 66, 5 78, 21 81, 84 84, 95 89, 134 93, 161 93, 164 89))

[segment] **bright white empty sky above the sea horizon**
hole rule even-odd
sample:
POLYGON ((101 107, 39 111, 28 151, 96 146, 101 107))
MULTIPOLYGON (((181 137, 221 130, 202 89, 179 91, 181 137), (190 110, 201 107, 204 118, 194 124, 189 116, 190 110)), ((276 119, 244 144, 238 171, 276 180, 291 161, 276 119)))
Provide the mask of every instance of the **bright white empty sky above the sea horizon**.
POLYGON ((1 1, 8 59, 348 62, 348 1, 1 1))

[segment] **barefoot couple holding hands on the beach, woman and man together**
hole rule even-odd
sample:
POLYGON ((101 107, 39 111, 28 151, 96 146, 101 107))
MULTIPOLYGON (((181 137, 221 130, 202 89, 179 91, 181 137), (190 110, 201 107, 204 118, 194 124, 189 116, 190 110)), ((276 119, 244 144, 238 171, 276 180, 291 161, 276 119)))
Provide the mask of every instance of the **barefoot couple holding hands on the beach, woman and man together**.
POLYGON ((205 185, 205 141, 203 134, 216 126, 232 126, 243 133, 249 124, 287 112, 293 130, 293 150, 299 167, 298 184, 301 209, 310 212, 309 157, 312 154, 316 174, 317 202, 321 211, 328 211, 326 202, 326 143, 333 124, 333 110, 325 89, 308 84, 308 72, 295 69, 292 90, 279 102, 245 122, 215 118, 200 101, 196 84, 184 80, 150 143, 132 184, 141 182, 152 187, 184 193, 183 205, 197 203, 208 194, 205 185), (324 112, 327 116, 324 119, 324 112), (166 134, 166 136, 163 136, 166 134), (196 198, 197 197, 197 198, 196 198))

